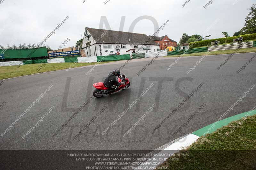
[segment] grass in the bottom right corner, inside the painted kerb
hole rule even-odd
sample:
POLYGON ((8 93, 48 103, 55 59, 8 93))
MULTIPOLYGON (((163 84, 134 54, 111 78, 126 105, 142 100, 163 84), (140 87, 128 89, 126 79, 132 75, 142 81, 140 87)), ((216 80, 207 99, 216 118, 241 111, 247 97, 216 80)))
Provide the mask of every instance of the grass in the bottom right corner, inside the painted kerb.
POLYGON ((255 169, 255 125, 256 115, 231 122, 180 151, 189 156, 170 157, 160 166, 169 169, 255 169))

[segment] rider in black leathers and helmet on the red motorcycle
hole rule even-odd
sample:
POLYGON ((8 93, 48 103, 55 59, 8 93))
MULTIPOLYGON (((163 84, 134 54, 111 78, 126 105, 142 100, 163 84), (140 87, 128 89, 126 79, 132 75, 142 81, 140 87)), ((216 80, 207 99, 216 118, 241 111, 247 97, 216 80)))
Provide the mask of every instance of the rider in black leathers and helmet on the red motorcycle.
POLYGON ((105 78, 104 85, 106 87, 109 87, 106 94, 111 94, 111 92, 115 91, 120 85, 125 84, 124 82, 118 82, 118 77, 120 76, 120 74, 121 71, 119 69, 114 69, 112 72, 108 74, 108 77, 105 78))

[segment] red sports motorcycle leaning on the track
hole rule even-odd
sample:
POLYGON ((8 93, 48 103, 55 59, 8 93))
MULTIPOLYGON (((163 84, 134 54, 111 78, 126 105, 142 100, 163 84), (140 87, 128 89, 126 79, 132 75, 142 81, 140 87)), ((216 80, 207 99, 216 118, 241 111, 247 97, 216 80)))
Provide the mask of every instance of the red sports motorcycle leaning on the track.
POLYGON ((125 90, 131 85, 131 83, 129 82, 129 79, 124 74, 121 74, 118 77, 118 82, 124 83, 124 84, 120 85, 118 88, 116 85, 113 85, 112 87, 106 87, 103 82, 93 84, 93 87, 96 88, 96 90, 94 90, 93 92, 93 96, 96 98, 100 98, 102 96, 107 95, 107 92, 109 89, 114 90, 114 88, 116 88, 116 90, 111 92, 113 93, 113 92, 118 92, 119 90, 125 90))

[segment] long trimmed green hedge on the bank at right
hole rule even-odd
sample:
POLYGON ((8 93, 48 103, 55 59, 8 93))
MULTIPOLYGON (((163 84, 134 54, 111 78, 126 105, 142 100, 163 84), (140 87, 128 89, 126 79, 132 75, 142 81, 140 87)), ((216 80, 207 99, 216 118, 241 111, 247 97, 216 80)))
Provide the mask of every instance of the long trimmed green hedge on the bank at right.
MULTIPOLYGON (((228 42, 233 42, 233 39, 239 38, 240 35, 235 36, 235 37, 228 37, 227 38, 227 43, 228 42)), ((246 40, 255 40, 256 39, 256 33, 253 34, 245 34, 242 35, 242 37, 244 38, 244 41, 246 40)), ((211 42, 214 42, 215 40, 220 41, 220 44, 224 44, 226 42, 226 38, 216 38, 216 39, 212 39, 212 40, 204 40, 204 41, 196 41, 196 42, 190 42, 189 43, 189 48, 196 48, 196 47, 203 47, 203 46, 209 46, 211 45, 211 42)))

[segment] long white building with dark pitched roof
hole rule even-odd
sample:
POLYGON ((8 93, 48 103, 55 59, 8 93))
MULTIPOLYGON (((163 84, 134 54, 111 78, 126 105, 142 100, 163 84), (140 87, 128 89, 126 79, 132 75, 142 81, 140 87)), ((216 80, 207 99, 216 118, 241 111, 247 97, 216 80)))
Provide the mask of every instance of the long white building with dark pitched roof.
POLYGON ((146 34, 128 33, 94 28, 85 28, 82 49, 87 56, 150 53, 159 49, 159 44, 146 34))

